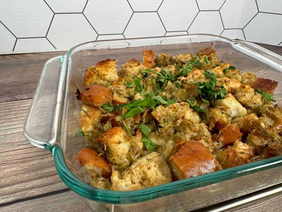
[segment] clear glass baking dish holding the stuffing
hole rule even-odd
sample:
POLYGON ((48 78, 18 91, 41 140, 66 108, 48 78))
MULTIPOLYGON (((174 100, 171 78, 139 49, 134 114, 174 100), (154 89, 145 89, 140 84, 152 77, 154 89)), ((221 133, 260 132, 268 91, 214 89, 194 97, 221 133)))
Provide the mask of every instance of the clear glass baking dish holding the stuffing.
POLYGON ((278 81, 274 96, 282 105, 282 57, 250 42, 207 34, 87 42, 45 63, 25 122, 25 137, 52 152, 61 179, 93 211, 190 211, 281 183, 282 156, 124 192, 91 187, 89 175, 77 161, 87 142, 77 133, 81 103, 76 100, 74 83, 83 87, 89 66, 118 59, 119 69, 133 57, 142 61, 144 49, 156 55, 188 54, 212 42, 219 60, 278 81))

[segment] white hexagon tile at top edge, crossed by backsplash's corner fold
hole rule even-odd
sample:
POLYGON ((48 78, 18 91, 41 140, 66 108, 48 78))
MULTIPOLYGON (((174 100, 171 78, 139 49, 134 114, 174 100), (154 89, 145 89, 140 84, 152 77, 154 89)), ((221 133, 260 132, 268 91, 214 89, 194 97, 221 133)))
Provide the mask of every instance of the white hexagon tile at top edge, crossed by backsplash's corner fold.
POLYGON ((226 0, 220 9, 224 29, 242 29, 257 12, 255 0, 226 0))

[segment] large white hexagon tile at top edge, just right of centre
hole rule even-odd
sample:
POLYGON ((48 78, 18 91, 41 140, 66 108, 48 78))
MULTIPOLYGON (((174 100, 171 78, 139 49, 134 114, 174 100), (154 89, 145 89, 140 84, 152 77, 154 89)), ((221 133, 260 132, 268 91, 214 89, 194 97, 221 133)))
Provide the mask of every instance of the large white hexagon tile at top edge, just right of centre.
POLYGON ((164 0, 158 14, 166 31, 186 31, 198 11, 195 0, 164 0))

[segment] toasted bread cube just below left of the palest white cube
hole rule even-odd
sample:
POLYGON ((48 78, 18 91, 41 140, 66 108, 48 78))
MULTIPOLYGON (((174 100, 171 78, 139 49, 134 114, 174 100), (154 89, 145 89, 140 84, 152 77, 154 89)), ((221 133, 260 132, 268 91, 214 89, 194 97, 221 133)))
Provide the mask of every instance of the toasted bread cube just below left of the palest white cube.
POLYGON ((207 119, 208 118, 210 120, 210 125, 208 128, 209 130, 221 130, 230 122, 228 115, 219 109, 212 108, 211 111, 207 114, 207 119))

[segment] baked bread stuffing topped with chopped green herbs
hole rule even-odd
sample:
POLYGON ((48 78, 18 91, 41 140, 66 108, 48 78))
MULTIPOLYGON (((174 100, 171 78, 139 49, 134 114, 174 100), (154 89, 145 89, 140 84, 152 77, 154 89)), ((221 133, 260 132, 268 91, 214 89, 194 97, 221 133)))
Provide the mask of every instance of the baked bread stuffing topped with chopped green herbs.
MULTIPOLYGON (((91 185, 143 189, 282 154, 278 82, 195 54, 142 52, 117 71, 103 60, 85 72, 78 161, 91 185)), ((94 65, 94 64, 93 64, 94 65)))

